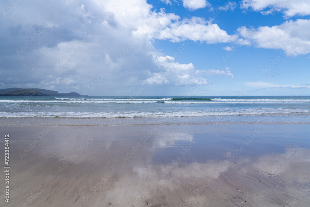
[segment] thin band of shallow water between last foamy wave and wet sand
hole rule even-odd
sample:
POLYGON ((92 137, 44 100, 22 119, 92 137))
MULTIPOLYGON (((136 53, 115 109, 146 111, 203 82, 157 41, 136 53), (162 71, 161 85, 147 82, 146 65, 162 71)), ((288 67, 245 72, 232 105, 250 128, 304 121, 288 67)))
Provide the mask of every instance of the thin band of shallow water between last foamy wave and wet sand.
POLYGON ((197 116, 139 118, 0 118, 1 126, 135 126, 191 124, 310 124, 310 116, 197 116), (5 123, 5 124, 4 124, 5 123))

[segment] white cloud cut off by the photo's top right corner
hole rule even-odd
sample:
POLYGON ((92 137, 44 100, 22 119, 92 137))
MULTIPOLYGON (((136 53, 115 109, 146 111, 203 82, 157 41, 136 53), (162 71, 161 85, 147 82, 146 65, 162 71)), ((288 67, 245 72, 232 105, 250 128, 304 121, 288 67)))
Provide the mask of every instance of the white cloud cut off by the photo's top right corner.
POLYGON ((264 15, 279 11, 282 11, 287 17, 310 14, 309 0, 242 0, 241 8, 248 9, 249 7, 254 11, 261 11, 264 15), (262 11, 266 8, 268 9, 262 11))

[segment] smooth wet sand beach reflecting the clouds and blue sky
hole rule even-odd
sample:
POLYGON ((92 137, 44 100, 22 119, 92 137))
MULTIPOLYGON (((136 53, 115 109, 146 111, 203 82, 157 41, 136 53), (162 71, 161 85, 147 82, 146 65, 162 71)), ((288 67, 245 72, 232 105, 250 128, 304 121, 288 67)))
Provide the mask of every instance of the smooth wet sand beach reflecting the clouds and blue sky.
POLYGON ((310 206, 309 124, 0 131, 0 206, 310 206))

